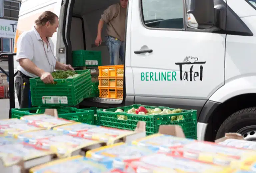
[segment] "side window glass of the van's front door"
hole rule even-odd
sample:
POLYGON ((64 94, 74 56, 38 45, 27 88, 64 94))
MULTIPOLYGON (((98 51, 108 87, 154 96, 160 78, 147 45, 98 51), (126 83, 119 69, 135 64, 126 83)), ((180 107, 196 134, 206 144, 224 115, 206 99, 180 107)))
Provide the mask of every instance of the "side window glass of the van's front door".
POLYGON ((142 0, 143 22, 150 28, 183 29, 183 1, 142 0))

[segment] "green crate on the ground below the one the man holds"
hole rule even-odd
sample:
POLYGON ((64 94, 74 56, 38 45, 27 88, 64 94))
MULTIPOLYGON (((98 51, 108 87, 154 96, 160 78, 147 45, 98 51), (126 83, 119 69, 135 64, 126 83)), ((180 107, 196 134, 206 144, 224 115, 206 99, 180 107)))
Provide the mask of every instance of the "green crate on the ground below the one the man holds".
POLYGON ((12 109, 12 118, 20 119, 25 115, 43 114, 46 108, 55 108, 58 111, 58 117, 68 119, 70 121, 77 121, 87 124, 95 124, 94 110, 77 109, 75 107, 31 107, 31 108, 14 108, 12 109), (36 111, 36 113, 31 113, 36 111))

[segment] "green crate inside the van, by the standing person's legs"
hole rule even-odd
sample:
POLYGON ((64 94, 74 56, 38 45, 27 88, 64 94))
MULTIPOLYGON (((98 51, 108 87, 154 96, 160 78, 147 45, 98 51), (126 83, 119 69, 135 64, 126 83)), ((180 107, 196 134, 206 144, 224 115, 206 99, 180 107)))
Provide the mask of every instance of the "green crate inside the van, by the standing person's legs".
POLYGON ((101 66, 101 51, 72 51, 73 67, 101 66))

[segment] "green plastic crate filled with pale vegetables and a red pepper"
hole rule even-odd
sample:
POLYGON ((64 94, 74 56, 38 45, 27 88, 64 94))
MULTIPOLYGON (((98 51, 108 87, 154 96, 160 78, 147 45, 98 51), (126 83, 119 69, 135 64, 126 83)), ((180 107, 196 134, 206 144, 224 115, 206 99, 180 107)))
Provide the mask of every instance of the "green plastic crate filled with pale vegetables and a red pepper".
MULTIPOLYGON (((197 139, 197 110, 182 110, 181 113, 169 114, 169 115, 138 115, 128 114, 126 112, 115 112, 117 108, 127 111, 131 108, 138 108, 144 106, 140 104, 134 104, 131 106, 116 107, 110 109, 97 110, 97 125, 114 127, 126 130, 135 130, 139 121, 146 122, 146 134, 158 133, 160 125, 180 125, 187 138, 197 139), (120 120, 117 115, 127 116, 127 120, 120 120), (183 120, 171 121, 171 116, 183 115, 183 120)), ((156 108, 155 106, 144 106, 145 108, 156 108)), ((164 108, 173 110, 174 108, 159 106, 161 110, 164 108)))

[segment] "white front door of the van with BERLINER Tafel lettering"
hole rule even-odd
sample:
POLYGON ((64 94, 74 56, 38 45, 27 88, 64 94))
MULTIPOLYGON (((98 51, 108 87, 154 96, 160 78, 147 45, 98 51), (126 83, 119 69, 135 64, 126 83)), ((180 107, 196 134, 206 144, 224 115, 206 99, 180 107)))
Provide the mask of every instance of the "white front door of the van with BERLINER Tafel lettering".
POLYGON ((206 100, 216 86, 224 84, 225 34, 145 27, 140 1, 131 2, 131 67, 136 96, 206 100), (134 53, 143 49, 153 52, 134 53), (191 58, 191 63, 184 62, 186 58, 191 58))

